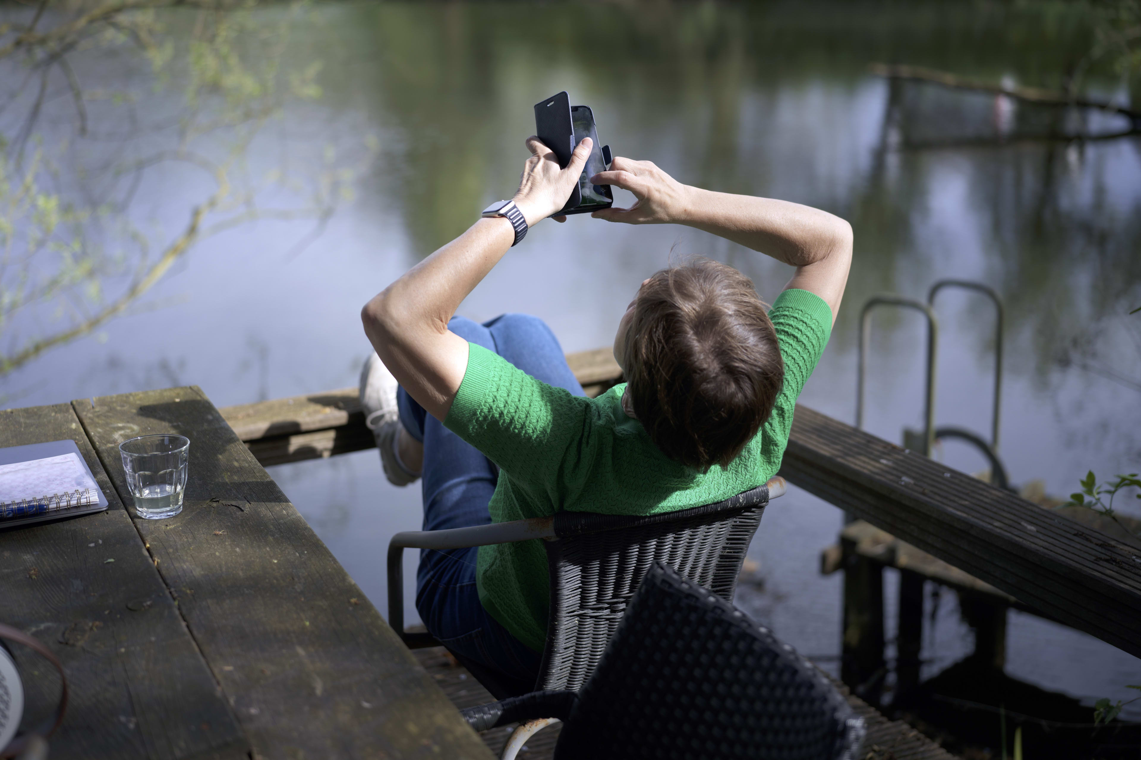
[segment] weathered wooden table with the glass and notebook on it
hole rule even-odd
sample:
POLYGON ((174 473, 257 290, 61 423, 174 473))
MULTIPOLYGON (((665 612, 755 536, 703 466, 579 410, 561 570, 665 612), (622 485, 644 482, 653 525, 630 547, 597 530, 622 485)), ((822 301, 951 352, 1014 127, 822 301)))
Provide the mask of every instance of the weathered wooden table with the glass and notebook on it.
MULTIPOLYGON (((60 658, 57 758, 491 758, 197 388, 0 411, 0 446, 70 438, 105 512, 0 531, 0 622, 60 658), (119 443, 191 439, 183 512, 143 520, 119 443)), ((58 682, 31 653, 25 715, 58 682)))

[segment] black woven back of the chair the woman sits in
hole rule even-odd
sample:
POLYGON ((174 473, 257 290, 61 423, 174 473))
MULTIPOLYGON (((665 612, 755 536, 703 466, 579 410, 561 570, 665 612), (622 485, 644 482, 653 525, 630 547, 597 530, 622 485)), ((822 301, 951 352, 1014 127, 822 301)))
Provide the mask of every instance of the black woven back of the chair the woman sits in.
POLYGON ((590 678, 655 561, 733 601, 768 502, 762 485, 714 504, 648 517, 558 514, 558 540, 545 542, 551 607, 535 688, 577 689, 590 678))

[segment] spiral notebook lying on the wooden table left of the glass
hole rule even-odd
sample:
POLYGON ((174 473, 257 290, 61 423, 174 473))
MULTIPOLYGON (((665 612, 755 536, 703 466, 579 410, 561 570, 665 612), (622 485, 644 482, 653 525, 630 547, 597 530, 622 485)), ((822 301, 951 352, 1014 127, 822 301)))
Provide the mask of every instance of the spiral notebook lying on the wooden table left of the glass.
POLYGON ((106 508, 74 440, 0 448, 0 529, 106 508))

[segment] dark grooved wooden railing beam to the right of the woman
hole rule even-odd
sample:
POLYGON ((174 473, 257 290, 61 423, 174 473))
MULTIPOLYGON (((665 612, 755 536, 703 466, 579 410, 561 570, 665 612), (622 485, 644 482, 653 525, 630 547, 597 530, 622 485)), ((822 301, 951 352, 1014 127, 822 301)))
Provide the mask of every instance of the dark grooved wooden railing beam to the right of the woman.
POLYGON ((1126 544, 803 406, 780 475, 1141 656, 1141 552, 1126 544))

